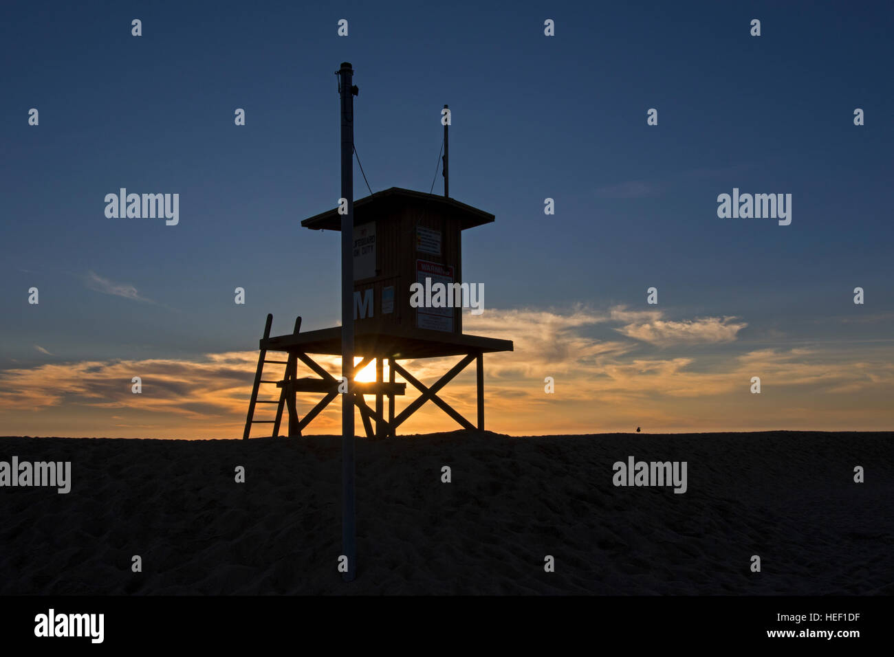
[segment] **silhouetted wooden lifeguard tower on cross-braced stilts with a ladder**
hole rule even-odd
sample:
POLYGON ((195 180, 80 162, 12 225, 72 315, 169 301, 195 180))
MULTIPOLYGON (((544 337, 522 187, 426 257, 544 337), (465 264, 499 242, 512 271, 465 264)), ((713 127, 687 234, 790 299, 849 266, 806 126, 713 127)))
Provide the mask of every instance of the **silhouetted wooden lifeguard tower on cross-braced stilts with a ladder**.
MULTIPOLYGON (((350 64, 342 64, 342 68, 345 66, 350 68, 350 64)), ((353 375, 356 377, 375 360, 375 382, 351 381, 347 394, 351 394, 360 411, 367 438, 395 436, 398 427, 429 400, 461 427, 484 429, 484 355, 512 350, 512 341, 463 333, 462 308, 456 304, 454 307, 413 307, 410 303, 411 284, 425 284, 426 277, 444 285, 462 283, 462 232, 493 222, 490 213, 448 197, 447 153, 445 126, 443 196, 392 187, 353 204, 353 342, 354 354, 360 357, 353 375), (445 356, 462 358, 430 387, 398 362, 445 356), (477 426, 438 396, 473 361, 477 367, 477 426), (385 364, 389 372, 387 382, 384 381, 385 364), (406 383, 395 382, 395 375, 400 375, 406 383), (419 396, 395 413, 395 397, 406 393, 407 383, 417 388, 419 396), (367 404, 367 395, 375 396, 375 408, 367 404), (387 416, 384 400, 388 402, 387 416)), ((305 219, 301 225, 315 231, 341 231, 342 215, 336 207, 305 219)), ((273 436, 279 435, 283 408, 288 409, 288 435, 299 436, 330 402, 345 393, 339 390, 341 380, 311 358, 316 354, 342 355, 340 326, 300 333, 301 318, 298 317, 292 333, 271 336, 272 321, 273 316, 268 315, 260 341, 244 439, 249 438, 255 424, 272 424, 273 436), (287 356, 284 360, 268 359, 270 351, 287 356), (299 362, 316 376, 299 377, 299 362), (282 366, 283 374, 267 378, 266 365, 282 366), (257 399, 262 385, 277 386, 277 399, 257 399), (298 392, 322 395, 303 417, 299 416, 298 392), (256 419, 257 404, 275 405, 275 417, 256 419)))

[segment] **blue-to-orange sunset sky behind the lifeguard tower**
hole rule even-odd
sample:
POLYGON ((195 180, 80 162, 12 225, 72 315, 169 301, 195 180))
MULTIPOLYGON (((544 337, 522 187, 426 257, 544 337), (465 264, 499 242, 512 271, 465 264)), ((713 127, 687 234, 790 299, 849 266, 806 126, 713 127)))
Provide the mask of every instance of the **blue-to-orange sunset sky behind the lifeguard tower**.
MULTIPOLYGON (((240 437, 266 314, 340 316, 338 235, 300 221, 341 196, 342 62, 371 189, 432 189, 449 104, 451 197, 496 216, 462 244, 464 330, 515 343, 486 428, 894 425, 889 3, 0 11, 0 434, 240 437), (179 223, 106 217, 120 188, 178 193, 179 223), (791 223, 721 218, 734 188, 790 194, 791 223)), ((474 383, 443 393, 473 421, 474 383)), ((401 433, 454 428, 427 404, 401 433)))

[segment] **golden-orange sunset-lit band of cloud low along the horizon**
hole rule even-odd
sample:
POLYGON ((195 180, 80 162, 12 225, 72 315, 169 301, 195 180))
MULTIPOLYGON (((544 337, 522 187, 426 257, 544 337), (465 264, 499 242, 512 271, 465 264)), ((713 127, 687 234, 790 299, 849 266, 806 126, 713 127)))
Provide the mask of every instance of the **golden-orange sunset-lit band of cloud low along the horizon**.
MULTIPOLYGON (((710 354, 675 352, 675 345, 733 341, 746 324, 734 317, 668 319, 658 310, 626 307, 488 308, 484 315, 464 316, 463 324, 468 333, 514 342, 512 352, 485 355, 487 426, 494 431, 594 433, 638 425, 646 431, 890 429, 894 362, 887 345, 749 350, 732 342, 710 354), (606 338, 595 337, 603 333, 606 338), (662 351, 655 354, 644 342, 662 351), (552 394, 544 391, 546 376, 554 379, 552 394), (761 377, 760 395, 749 392, 752 376, 761 377)), ((313 358, 339 373, 339 358, 313 358)), ((401 365, 431 384, 459 359, 401 365)), ((235 438, 245 422, 256 365, 257 351, 234 351, 188 360, 89 360, 2 370, 0 425, 4 432, 31 435, 235 438), (140 394, 131 392, 136 375, 142 379, 140 394)), ((264 378, 282 374, 282 366, 268 366, 264 378)), ((302 366, 299 376, 308 375, 302 366)), ((474 422, 475 387, 469 366, 438 394, 474 422)), ((407 396, 398 398, 398 413, 417 396, 412 385, 407 388, 407 396)), ((275 385, 266 385, 260 399, 277 394, 275 385)), ((299 414, 319 399, 299 395, 299 414)), ((275 406, 264 407, 258 415, 273 417, 275 406)), ((339 433, 340 415, 336 400, 309 433, 339 433)), ((257 426, 257 435, 270 427, 257 426)), ((450 417, 426 403, 399 433, 453 428, 450 417)))

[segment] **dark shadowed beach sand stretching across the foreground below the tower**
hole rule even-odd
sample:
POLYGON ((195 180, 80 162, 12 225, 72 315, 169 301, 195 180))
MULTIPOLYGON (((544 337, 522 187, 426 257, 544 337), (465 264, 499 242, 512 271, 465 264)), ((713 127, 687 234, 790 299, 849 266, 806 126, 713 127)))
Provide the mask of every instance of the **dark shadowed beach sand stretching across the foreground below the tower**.
POLYGON ((0 488, 0 594, 894 594, 892 433, 361 440, 352 584, 340 438, 0 438, 13 455, 71 460, 72 492, 0 488), (613 486, 630 455, 686 460, 687 493, 613 486))

